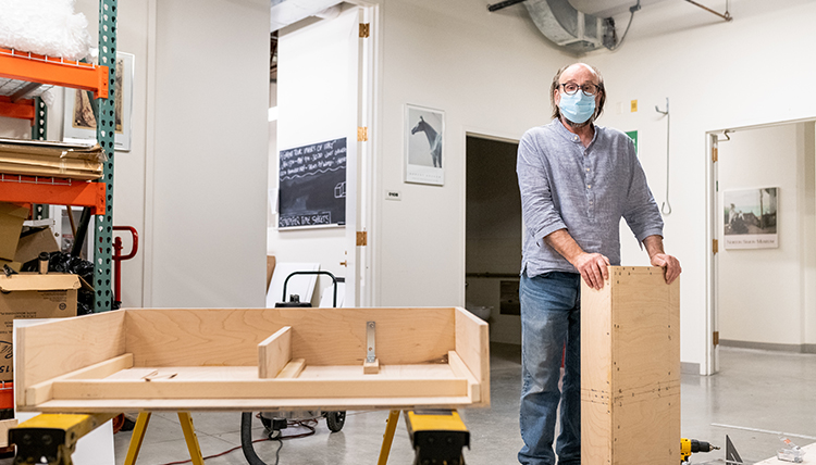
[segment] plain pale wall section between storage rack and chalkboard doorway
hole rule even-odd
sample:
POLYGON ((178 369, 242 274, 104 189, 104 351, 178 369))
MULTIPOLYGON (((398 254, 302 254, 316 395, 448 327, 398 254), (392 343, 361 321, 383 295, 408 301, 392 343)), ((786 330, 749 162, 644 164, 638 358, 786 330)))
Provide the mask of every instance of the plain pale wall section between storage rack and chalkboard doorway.
POLYGON ((147 304, 264 304, 269 14, 157 2, 147 304))

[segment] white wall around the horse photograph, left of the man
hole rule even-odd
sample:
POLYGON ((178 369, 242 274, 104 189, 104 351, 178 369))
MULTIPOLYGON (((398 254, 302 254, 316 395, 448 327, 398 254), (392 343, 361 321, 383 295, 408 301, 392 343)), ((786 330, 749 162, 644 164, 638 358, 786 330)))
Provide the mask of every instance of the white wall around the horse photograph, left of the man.
POLYGON ((548 83, 570 59, 523 8, 408 0, 381 11, 374 304, 463 305, 466 131, 520 139, 547 123, 548 83), (403 180, 406 103, 445 111, 442 187, 403 180), (383 200, 386 190, 403 200, 383 200))

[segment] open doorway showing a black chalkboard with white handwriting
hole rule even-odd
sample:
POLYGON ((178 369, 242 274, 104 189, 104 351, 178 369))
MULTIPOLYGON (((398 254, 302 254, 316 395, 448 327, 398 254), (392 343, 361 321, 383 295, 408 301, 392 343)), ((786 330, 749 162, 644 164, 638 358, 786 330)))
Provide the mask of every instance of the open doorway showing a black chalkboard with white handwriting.
MULTIPOLYGON (((373 33, 362 30, 378 30, 375 16, 374 7, 341 2, 331 14, 280 29, 274 39, 279 114, 270 123, 267 253, 277 264, 317 265, 344 278, 343 306, 372 299, 367 235, 376 63, 373 33)), ((323 276, 317 282, 316 306, 334 288, 323 276)))

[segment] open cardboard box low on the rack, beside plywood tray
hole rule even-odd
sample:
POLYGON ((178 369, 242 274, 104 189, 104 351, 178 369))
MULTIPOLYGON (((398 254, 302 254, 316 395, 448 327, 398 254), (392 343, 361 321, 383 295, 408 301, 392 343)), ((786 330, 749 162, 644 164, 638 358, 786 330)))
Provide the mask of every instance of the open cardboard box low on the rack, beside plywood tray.
POLYGON ((76 316, 79 278, 62 273, 0 274, 0 381, 14 378, 12 330, 14 319, 76 316))

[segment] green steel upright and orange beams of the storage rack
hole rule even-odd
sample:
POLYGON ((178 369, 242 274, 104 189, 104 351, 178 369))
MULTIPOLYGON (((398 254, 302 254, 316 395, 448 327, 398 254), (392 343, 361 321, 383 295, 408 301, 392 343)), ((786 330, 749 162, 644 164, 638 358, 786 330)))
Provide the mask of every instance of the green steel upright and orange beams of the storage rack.
MULTIPOLYGON (((0 174, 0 201, 86 206, 95 216, 94 227, 94 312, 111 310, 113 292, 113 155, 115 135, 116 0, 99 1, 99 64, 0 49, 0 78, 21 81, 21 96, 37 85, 63 86, 92 91, 97 104, 97 141, 107 161, 102 178, 87 183, 0 174), (24 91, 25 90, 25 91, 24 91)), ((33 122, 33 139, 45 139, 45 105, 39 101, 5 102, 3 109, 33 110, 25 118, 33 122), (30 117, 28 117, 30 116, 30 117)), ((39 100, 39 99, 38 99, 39 100)), ((28 110, 25 110, 26 112, 28 110)), ((21 116, 16 116, 21 117, 21 116)))

